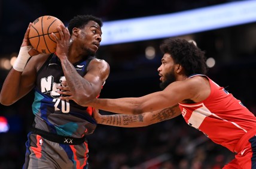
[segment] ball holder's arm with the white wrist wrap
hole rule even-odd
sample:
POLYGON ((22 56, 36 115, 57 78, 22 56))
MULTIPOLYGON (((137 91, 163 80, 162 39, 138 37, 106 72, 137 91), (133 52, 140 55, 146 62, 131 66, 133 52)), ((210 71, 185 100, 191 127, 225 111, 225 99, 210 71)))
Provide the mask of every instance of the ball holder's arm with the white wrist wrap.
POLYGON ((18 101, 31 91, 34 86, 38 61, 36 61, 36 57, 32 57, 30 60, 29 58, 38 55, 39 52, 33 49, 29 43, 28 33, 30 26, 31 23, 26 30, 17 60, 14 62, 14 66, 2 86, 0 102, 3 105, 11 105, 18 101))

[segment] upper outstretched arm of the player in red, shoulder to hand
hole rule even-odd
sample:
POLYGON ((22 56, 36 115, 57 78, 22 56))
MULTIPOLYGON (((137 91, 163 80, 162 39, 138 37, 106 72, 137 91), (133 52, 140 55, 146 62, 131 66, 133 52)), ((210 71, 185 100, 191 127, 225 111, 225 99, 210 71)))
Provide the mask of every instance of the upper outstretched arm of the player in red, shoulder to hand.
MULTIPOLYGON (((68 87, 63 87, 62 90, 68 90, 68 87)), ((185 100, 200 102, 206 99, 210 92, 211 88, 207 79, 193 77, 170 83, 160 92, 150 93, 139 98, 93 99, 92 102, 82 103, 82 105, 118 114, 138 115, 169 108, 185 100)), ((61 94, 69 95, 61 99, 75 100, 76 98, 68 91, 61 92, 61 94)))

